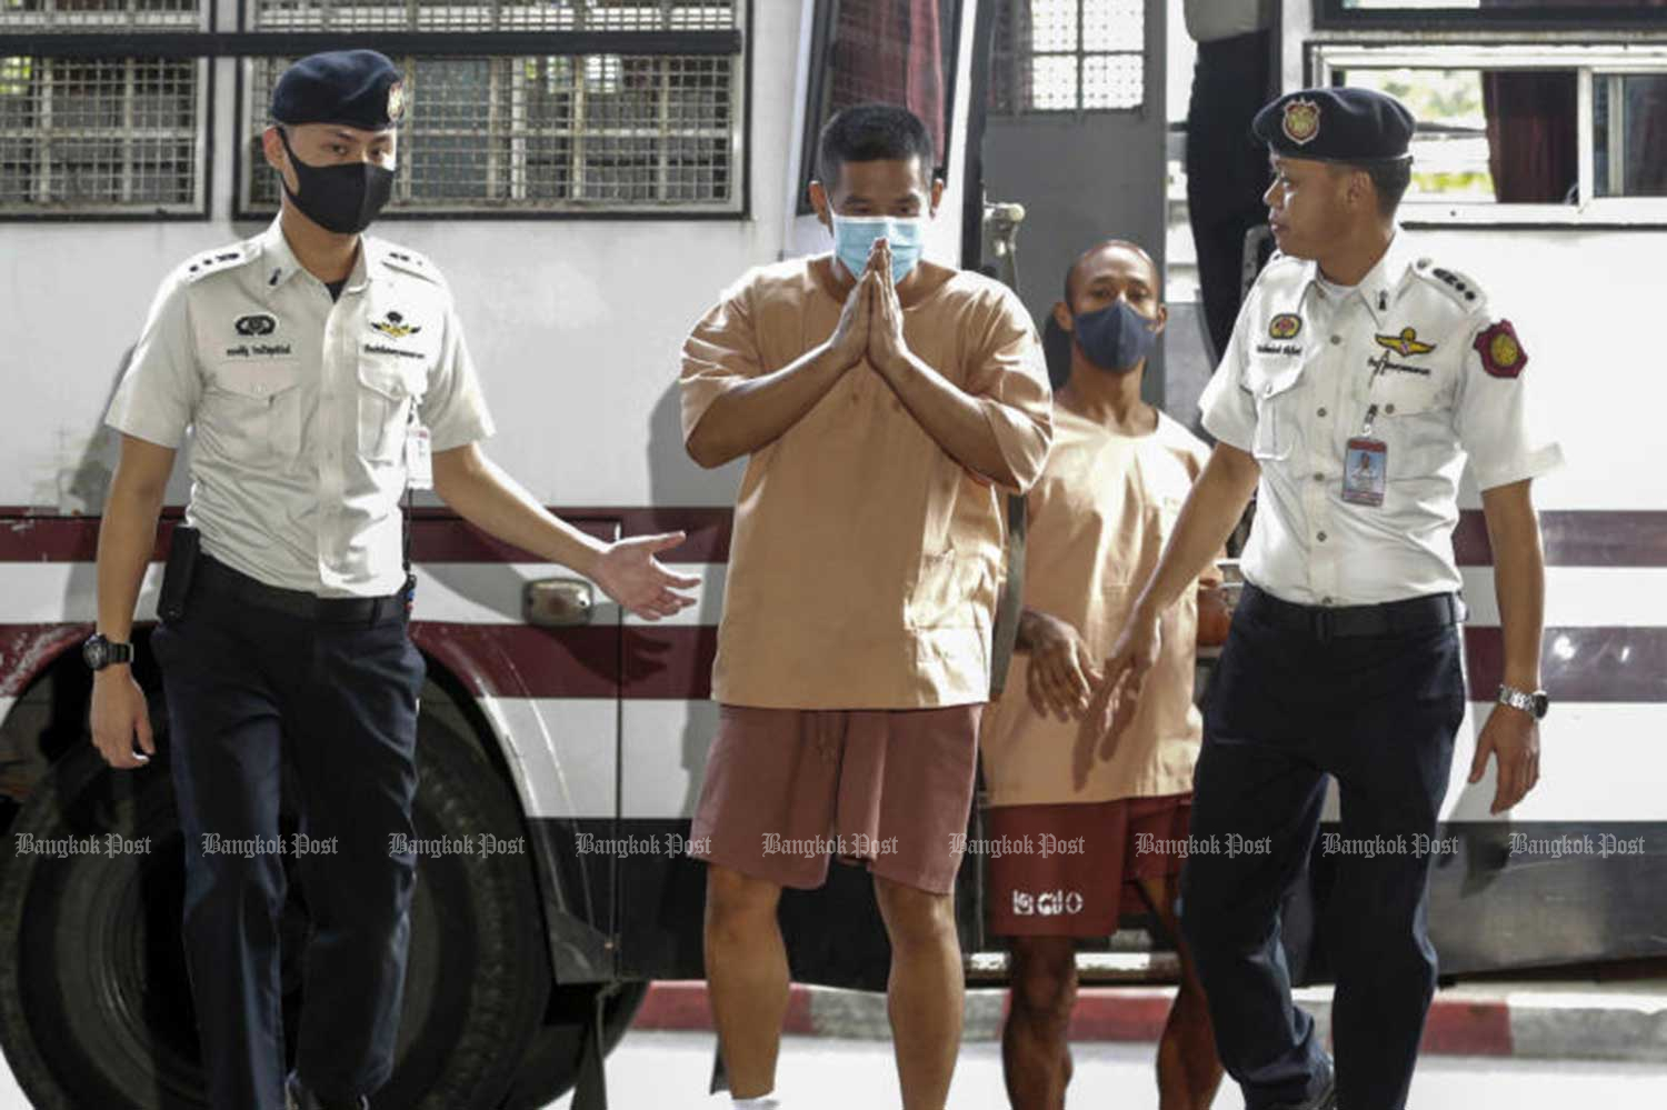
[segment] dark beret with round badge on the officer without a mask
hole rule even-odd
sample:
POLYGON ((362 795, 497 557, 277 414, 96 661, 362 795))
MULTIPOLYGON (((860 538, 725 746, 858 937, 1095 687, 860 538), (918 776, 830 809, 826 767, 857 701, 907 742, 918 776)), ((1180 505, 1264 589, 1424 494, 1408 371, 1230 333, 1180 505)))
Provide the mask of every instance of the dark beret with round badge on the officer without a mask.
POLYGON ((1372 88, 1302 88, 1257 112, 1250 130, 1274 153, 1315 162, 1405 158, 1412 113, 1372 88))

